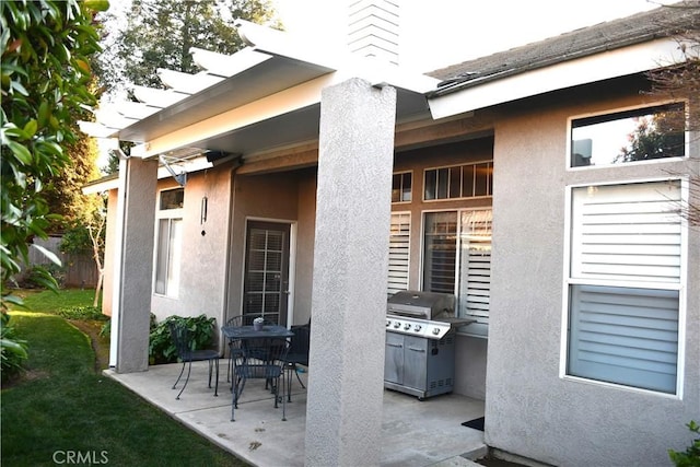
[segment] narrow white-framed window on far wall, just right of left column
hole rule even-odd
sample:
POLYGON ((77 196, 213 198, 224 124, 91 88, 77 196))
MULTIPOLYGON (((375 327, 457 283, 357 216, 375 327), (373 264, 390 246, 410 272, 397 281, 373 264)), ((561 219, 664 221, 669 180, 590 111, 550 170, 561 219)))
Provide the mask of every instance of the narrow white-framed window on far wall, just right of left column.
POLYGON ((155 284, 161 295, 177 296, 179 288, 180 245, 183 242, 183 201, 185 190, 161 191, 155 240, 155 284))

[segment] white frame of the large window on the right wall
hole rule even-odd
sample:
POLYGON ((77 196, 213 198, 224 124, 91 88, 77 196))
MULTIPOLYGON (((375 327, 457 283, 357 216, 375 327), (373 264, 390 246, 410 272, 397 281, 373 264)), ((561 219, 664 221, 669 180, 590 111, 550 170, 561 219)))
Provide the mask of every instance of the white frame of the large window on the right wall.
MULTIPOLYGON (((645 161, 646 162, 646 161, 645 161)), ((607 166, 607 168, 610 168, 607 166)), ((639 179, 623 179, 610 182, 592 182, 567 185, 564 194, 564 238, 563 238, 563 271, 562 271, 562 319, 561 319, 561 342, 560 342, 560 367, 559 377, 564 381, 591 384, 599 387, 609 387, 618 390, 629 390, 640 394, 650 394, 657 397, 681 400, 684 398, 684 380, 685 380, 685 355, 686 355, 686 317, 687 317, 687 278, 688 278, 688 225, 680 219, 680 245, 679 245, 679 279, 678 282, 670 281, 648 281, 639 282, 633 280, 621 280, 616 282, 612 279, 591 279, 591 278, 573 278, 572 277, 572 236, 573 236, 573 192, 575 189, 585 187, 616 187, 623 185, 641 185, 653 184, 660 182, 678 182, 680 189, 680 202, 687 203, 689 200, 690 184, 686 176, 668 176, 668 177, 646 177, 639 179), (569 374, 570 358, 570 335, 571 335, 571 290, 572 285, 597 285, 597 287, 619 287, 630 289, 649 289, 649 290, 673 290, 678 292, 678 342, 677 342, 677 360, 676 360, 676 388, 675 393, 665 393, 656 389, 648 389, 643 387, 625 385, 621 383, 594 380, 585 376, 569 374)), ((679 214, 680 215, 680 214, 679 214)))

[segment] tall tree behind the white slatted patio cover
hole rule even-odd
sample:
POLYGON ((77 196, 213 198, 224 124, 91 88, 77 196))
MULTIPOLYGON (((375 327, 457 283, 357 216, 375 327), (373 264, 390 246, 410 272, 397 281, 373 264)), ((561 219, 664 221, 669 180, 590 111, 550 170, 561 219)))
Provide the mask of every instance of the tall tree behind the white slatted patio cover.
POLYGON ((126 26, 110 38, 102 56, 102 75, 108 87, 122 83, 164 87, 159 68, 195 73, 190 47, 222 54, 243 48, 233 22, 270 21, 269 0, 133 0, 126 26))

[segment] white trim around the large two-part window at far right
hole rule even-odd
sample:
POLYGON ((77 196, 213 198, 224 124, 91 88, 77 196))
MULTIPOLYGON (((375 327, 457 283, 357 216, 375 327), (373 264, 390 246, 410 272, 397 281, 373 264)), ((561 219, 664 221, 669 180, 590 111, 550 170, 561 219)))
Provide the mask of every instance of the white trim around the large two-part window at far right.
MULTIPOLYGON (((609 168, 609 167, 607 167, 609 168)), ((559 348, 559 378, 567 382, 584 383, 603 388, 615 388, 621 390, 629 390, 640 394, 654 395, 656 397, 663 397, 674 400, 682 400, 684 398, 684 383, 685 383, 685 366, 686 366, 686 326, 687 326, 687 283, 688 283, 688 224, 681 221, 680 229, 680 275, 677 284, 672 283, 642 283, 633 282, 632 287, 649 287, 650 289, 665 289, 665 290, 678 290, 678 355, 677 355, 677 371, 676 371, 676 394, 667 394, 657 390, 644 389, 640 387, 626 386, 616 383, 590 380, 581 376, 573 376, 567 374, 568 358, 569 358, 569 291, 571 284, 580 283, 579 280, 570 278, 571 270, 571 202, 573 190, 575 188, 582 188, 587 186, 617 186, 627 184, 644 184, 654 182, 670 182, 680 180, 680 200, 686 203, 689 200, 690 182, 687 176, 678 177, 649 177, 639 179, 625 179, 616 182, 602 182, 602 183, 582 183, 572 184, 565 187, 564 194, 564 238, 563 238, 563 270, 562 270, 562 302, 561 302, 561 330, 560 330, 560 348, 559 348), (664 287, 661 287, 664 285, 664 287)), ((595 284, 596 281, 586 281, 586 283, 595 284)), ((609 284, 606 282, 606 284, 609 284)), ((620 282, 620 287, 628 287, 626 282, 620 282)))

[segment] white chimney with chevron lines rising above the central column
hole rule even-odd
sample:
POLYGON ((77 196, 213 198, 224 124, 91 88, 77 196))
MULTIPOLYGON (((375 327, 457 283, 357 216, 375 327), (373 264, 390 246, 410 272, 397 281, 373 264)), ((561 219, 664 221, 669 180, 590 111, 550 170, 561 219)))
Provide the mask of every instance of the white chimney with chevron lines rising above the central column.
POLYGON ((398 65, 400 0, 350 0, 348 48, 398 65))

